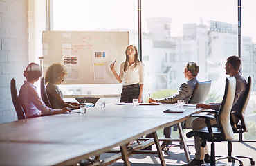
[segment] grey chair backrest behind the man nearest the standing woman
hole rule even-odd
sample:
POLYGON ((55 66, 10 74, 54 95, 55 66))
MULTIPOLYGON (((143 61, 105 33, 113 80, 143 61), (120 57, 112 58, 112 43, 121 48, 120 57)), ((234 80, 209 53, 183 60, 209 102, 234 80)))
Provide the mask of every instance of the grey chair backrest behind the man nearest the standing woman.
POLYGON ((206 100, 206 97, 210 91, 210 86, 212 81, 205 81, 205 82, 197 82, 196 86, 194 87, 194 91, 191 95, 190 100, 188 100, 189 104, 197 104, 203 103, 206 100))

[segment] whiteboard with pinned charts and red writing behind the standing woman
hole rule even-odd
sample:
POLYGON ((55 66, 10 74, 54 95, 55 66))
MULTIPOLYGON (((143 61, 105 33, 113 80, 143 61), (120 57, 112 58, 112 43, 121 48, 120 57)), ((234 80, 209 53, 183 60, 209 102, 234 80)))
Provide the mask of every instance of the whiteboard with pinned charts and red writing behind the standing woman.
POLYGON ((129 32, 44 31, 43 71, 60 62, 68 71, 62 84, 116 84, 109 66, 125 61, 129 32))

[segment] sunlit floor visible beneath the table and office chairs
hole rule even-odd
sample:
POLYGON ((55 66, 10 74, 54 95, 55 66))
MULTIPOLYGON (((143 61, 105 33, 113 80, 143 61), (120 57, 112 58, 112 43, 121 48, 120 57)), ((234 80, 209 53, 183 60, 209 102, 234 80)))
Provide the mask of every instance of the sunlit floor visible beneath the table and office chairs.
MULTIPOLYGON (((191 152, 191 158, 194 158, 194 141, 187 140, 186 141, 189 146, 191 152)), ((175 142, 174 142, 175 143, 175 142)), ((232 155, 239 156, 250 156, 253 160, 256 160, 256 142, 232 142, 233 152, 232 155)), ((208 144, 210 147, 210 144, 208 144)), ((216 155, 227 155, 227 142, 217 142, 215 143, 215 151, 216 155)), ((153 150, 156 150, 156 147, 153 145, 153 150)), ((100 160, 107 158, 113 154, 102 154, 100 156, 100 160)), ((168 154, 164 154, 166 165, 183 165, 186 163, 185 154, 183 153, 183 149, 180 147, 171 147, 168 151, 168 154)), ((241 159, 244 163, 244 166, 250 165, 250 160, 241 159)), ((129 161, 132 166, 151 166, 151 165, 161 165, 160 160, 157 154, 134 154, 134 156, 129 157, 129 161)), ((228 160, 218 161, 217 164, 220 165, 232 165, 232 163, 228 163, 228 160)), ((113 166, 123 165, 122 160, 117 160, 116 163, 111 164, 113 166)), ((235 162, 234 164, 239 165, 239 162, 235 162)))

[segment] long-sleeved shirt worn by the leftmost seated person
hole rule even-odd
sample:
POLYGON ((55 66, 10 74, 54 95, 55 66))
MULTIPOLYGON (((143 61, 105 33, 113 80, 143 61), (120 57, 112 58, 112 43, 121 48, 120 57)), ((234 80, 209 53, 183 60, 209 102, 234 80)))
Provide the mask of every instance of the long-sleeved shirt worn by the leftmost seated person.
POLYGON ((24 84, 19 90, 19 100, 21 101, 27 118, 41 114, 51 115, 54 112, 54 109, 48 108, 39 97, 37 87, 28 81, 24 81, 24 84))

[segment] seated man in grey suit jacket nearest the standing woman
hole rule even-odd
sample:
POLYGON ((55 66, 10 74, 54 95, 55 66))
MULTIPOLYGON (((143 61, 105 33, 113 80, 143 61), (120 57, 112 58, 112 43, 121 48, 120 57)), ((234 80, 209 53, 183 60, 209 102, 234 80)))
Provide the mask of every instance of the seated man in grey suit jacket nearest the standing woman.
MULTIPOLYGON (((176 103, 177 100, 182 99, 184 102, 188 102, 190 100, 190 97, 194 91, 194 87, 196 86, 196 82, 198 82, 196 76, 199 73, 199 66, 195 62, 188 62, 185 65, 184 69, 184 76, 186 79, 188 79, 187 82, 183 82, 181 86, 179 87, 179 90, 176 92, 176 94, 162 99, 152 99, 149 98, 149 102, 161 102, 161 103, 176 103)), ((165 138, 171 138, 171 127, 166 127, 163 130, 163 134, 165 135, 165 138)), ((170 144, 171 142, 163 142, 163 145, 170 144)))

